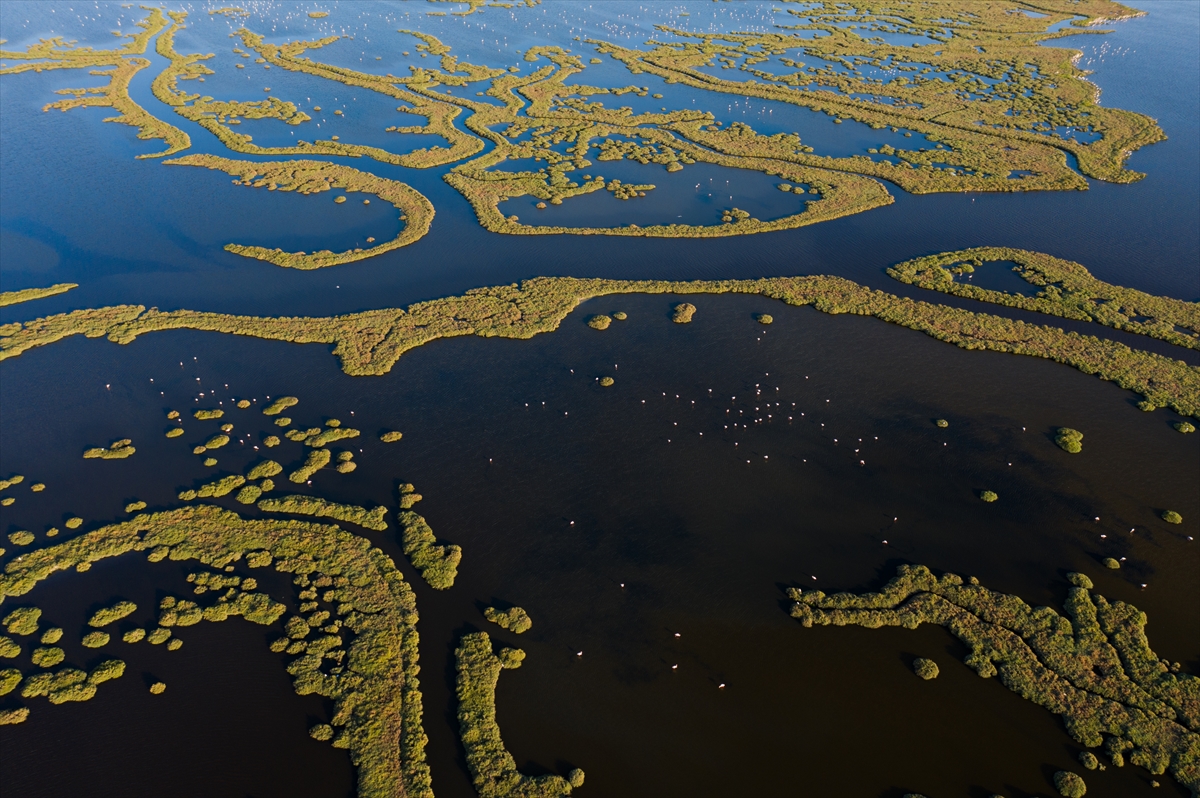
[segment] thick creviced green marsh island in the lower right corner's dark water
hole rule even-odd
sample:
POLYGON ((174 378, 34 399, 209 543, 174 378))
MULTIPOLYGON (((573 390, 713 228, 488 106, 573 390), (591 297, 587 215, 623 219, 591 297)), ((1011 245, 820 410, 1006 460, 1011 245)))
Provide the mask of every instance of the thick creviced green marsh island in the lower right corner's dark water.
POLYGON ((967 666, 984 678, 998 674, 1006 688, 1060 715, 1080 744, 1103 746, 1115 764, 1128 757, 1153 774, 1169 772, 1196 792, 1200 678, 1154 654, 1144 612, 1091 593, 1082 574, 1068 580, 1066 617, 954 574, 935 577, 923 565, 901 565, 878 593, 792 588, 788 595, 804 626, 946 626, 971 649, 967 666))

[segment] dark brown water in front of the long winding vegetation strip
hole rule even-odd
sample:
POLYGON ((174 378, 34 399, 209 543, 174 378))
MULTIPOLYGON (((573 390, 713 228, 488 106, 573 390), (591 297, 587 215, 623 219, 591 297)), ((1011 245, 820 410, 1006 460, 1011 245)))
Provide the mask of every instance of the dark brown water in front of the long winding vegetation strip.
MULTIPOLYGON (((1058 606, 1064 574, 1081 570, 1104 595, 1148 613, 1160 655, 1193 672, 1200 665, 1200 569, 1187 540, 1200 517, 1200 457, 1196 439, 1170 427, 1174 416, 1140 413, 1132 394, 1068 367, 965 352, 874 319, 722 296, 694 298, 696 320, 676 325, 672 301, 594 300, 558 332, 437 342, 380 378, 346 377, 320 346, 194 332, 122 348, 76 340, 54 358, 35 352, 6 364, 2 451, 5 461, 20 451, 29 479, 50 487, 36 499, 41 508, 23 496, 10 510, 26 505, 28 520, 12 517, 37 530, 35 515, 59 521, 49 508, 101 520, 128 497, 172 503, 205 470, 187 454, 203 433, 191 421, 188 436, 169 442, 162 413, 185 407, 197 376, 227 403, 292 392, 301 397, 290 412, 296 425, 336 416, 361 427, 359 470, 322 474, 314 490, 394 503, 395 482, 413 481, 426 497, 418 510, 466 552, 454 589, 437 593, 400 557, 394 533, 371 535, 385 539, 418 592, 438 794, 472 794, 451 677, 452 648, 469 629, 528 653, 498 692, 520 766, 582 767, 584 790, 596 796, 1033 794, 1048 790, 1054 770, 1078 769, 1079 746, 1061 722, 979 679, 943 630, 803 629, 786 613, 786 586, 865 590, 911 562, 1058 606), (630 320, 604 332, 583 324, 616 310, 630 320), (756 312, 775 323, 755 323, 756 312), (199 360, 188 364, 193 353, 199 360), (604 374, 617 384, 601 389, 595 377, 604 374), (20 388, 43 382, 71 386, 49 398, 20 388), (766 419, 768 401, 780 403, 769 420, 746 420, 766 419), (940 430, 937 418, 950 426, 940 430), (750 428, 734 431, 731 419, 750 428), (1081 455, 1054 445, 1057 426, 1085 433, 1081 455), (400 444, 372 440, 392 427, 406 433, 400 444), (61 456, 80 440, 116 436, 133 437, 139 452, 113 463, 61 456), (82 473, 89 476, 70 476, 82 473), (1001 499, 980 502, 984 488, 1001 499), (1166 506, 1183 515, 1182 527, 1157 520, 1166 506), (1106 556, 1128 560, 1111 572, 1098 562, 1106 556), (480 610, 492 602, 526 607, 533 630, 517 638, 486 624, 480 610), (938 661, 942 676, 918 679, 914 656, 938 661)), ((253 439, 270 426, 257 412, 239 413, 228 420, 253 439)), ((241 470, 257 457, 252 445, 227 446, 218 468, 241 470)), ((287 464, 288 450, 275 451, 287 464)), ((84 602, 82 622, 92 601, 108 598, 97 595, 103 582, 84 580, 103 576, 64 577, 62 589, 48 586, 55 589, 46 595, 64 607, 84 602)), ((55 768, 59 754, 42 740, 103 737, 119 713, 137 727, 186 716, 190 731, 130 733, 116 750, 84 757, 119 785, 113 794, 155 793, 163 774, 186 768, 139 763, 198 767, 209 757, 196 740, 227 740, 230 727, 254 745, 235 744, 244 760, 206 768, 228 792, 352 788, 344 757, 306 739, 323 709, 290 695, 286 658, 265 650, 271 635, 240 620, 205 626, 188 630, 185 648, 162 653, 162 664, 131 659, 131 673, 103 685, 91 704, 36 706, 25 728, 41 730, 37 737, 5 728, 0 748, 20 756, 0 757, 0 776, 37 774, 19 781, 23 794, 72 792, 78 773, 55 768), (168 692, 150 696, 139 668, 168 664, 180 668, 164 678, 168 692), (164 697, 181 706, 160 715, 151 698, 164 697), (110 712, 92 712, 104 707, 110 712), (289 784, 302 787, 271 786, 289 784)), ((1090 794, 1151 790, 1132 767, 1087 781, 1090 794)), ((186 788, 192 780, 169 782, 186 788)), ((212 782, 194 784, 198 794, 212 792, 204 787, 212 782)))

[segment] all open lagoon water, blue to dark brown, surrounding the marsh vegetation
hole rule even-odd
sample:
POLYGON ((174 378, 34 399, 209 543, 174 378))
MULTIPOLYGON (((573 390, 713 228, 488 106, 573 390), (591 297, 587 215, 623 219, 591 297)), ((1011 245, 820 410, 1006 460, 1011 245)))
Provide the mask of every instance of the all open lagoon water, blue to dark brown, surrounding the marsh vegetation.
MULTIPOLYGON (((545 5, 534 13, 560 13, 545 5)), ((696 16, 689 20, 700 24, 701 6, 713 4, 690 5, 696 16)), ((11 14, 5 7, 13 4, 0 6, 0 14, 11 14)), ((1088 192, 1026 196, 914 197, 889 187, 892 206, 799 230, 644 241, 493 235, 436 170, 329 158, 410 182, 438 215, 431 234, 413 246, 319 272, 274 269, 221 247, 239 241, 311 250, 320 240, 338 248, 365 235, 384 240, 374 230, 394 232, 386 227, 398 224, 394 209, 334 205, 332 193, 268 194, 232 186, 223 173, 134 161, 158 143, 101 124, 108 109, 41 112, 54 89, 89 85, 83 71, 6 77, 0 281, 5 290, 83 284, 5 308, 2 319, 131 301, 164 310, 331 314, 553 274, 840 274, 900 292, 883 272, 888 265, 980 244, 1050 252, 1082 262, 1103 280, 1193 299, 1200 296, 1198 92, 1187 83, 1194 83, 1194 70, 1180 65, 1189 62, 1200 14, 1186 4, 1139 7, 1151 16, 1115 24, 1116 34, 1062 41, 1081 40, 1085 62, 1097 61, 1090 68, 1105 102, 1157 116, 1171 137, 1133 156, 1130 167, 1148 173, 1139 184, 1090 181, 1088 192), (1110 42, 1108 50, 1103 42, 1110 42), (1153 76, 1170 77, 1147 80, 1153 76), (361 216, 358 227, 344 224, 343 211, 361 216)), ((737 11, 713 10, 714 24, 737 28, 728 22, 737 11)), ((618 10, 596 25, 617 30, 629 16, 618 10)), ((445 30, 506 18, 523 19, 488 10, 479 18, 448 17, 445 30)), ((10 19, 0 17, 6 26, 10 19)), ((296 22, 306 31, 319 28, 296 22)), ((106 30, 96 28, 97 42, 112 38, 106 30)), ((7 28, 5 35, 19 44, 7 28)), ((629 41, 646 37, 637 31, 629 41)), ((220 38, 233 41, 224 32, 220 38)), ((468 44, 470 36, 462 40, 468 44)), ((347 55, 346 65, 373 58, 368 53, 347 55)), ((522 71, 530 66, 512 62, 522 71)), ((280 72, 265 74, 282 86, 280 72)), ((649 85, 648 77, 618 85, 649 85)), ((145 100, 149 71, 137 80, 137 97, 152 107, 145 100)), ((212 78, 206 83, 222 96, 212 78)), ((394 107, 380 106, 397 116, 394 107)), ((187 130, 197 151, 223 154, 198 126, 155 110, 187 130)), ((821 119, 832 134, 851 125, 821 119)), ((397 122, 378 127, 384 124, 397 122)), ((636 164, 595 162, 588 170, 622 176, 618 167, 636 164)), ((674 175, 652 169, 655 178, 646 181, 660 184, 655 191, 664 196, 665 176, 702 174, 697 167, 674 175)), ((803 202, 770 191, 764 199, 803 202)), ((620 203, 605 192, 598 199, 623 210, 654 196, 620 203)), ((512 212, 523 220, 534 214, 512 212)), ((983 272, 973 282, 983 284, 983 272)), ((203 437, 198 422, 185 425, 185 438, 162 437, 167 407, 200 406, 191 402, 196 377, 215 386, 220 401, 295 394, 302 400, 293 413, 298 424, 348 421, 353 410, 364 419, 365 438, 379 428, 403 430, 394 446, 365 440, 353 475, 318 479, 323 496, 365 505, 394 502, 395 482, 413 481, 426 497, 418 510, 439 536, 464 547, 460 581, 442 594, 400 554, 394 529, 376 534, 418 593, 428 752, 439 796, 473 794, 452 697, 452 648, 472 629, 529 655, 521 670, 502 676, 498 692, 502 732, 518 764, 527 773, 582 767, 588 782, 580 794, 587 796, 790 794, 798 785, 817 794, 1036 794, 1049 790, 1050 773, 1074 766, 1078 746, 1061 722, 995 679, 976 677, 943 630, 803 629, 787 617, 787 586, 860 592, 886 582, 896 564, 919 562, 1058 607, 1064 574, 1081 570, 1099 593, 1147 612, 1160 655, 1192 672, 1200 667, 1200 618, 1187 610, 1200 594, 1200 568, 1195 544, 1186 540, 1200 517, 1200 451, 1195 436, 1171 430, 1176 416, 1138 413, 1132 394, 1055 364, 962 352, 872 319, 722 296, 690 298, 700 307, 696 320, 674 325, 672 301, 594 300, 554 334, 437 342, 406 354, 380 378, 347 377, 323 346, 198 332, 146 335, 128 347, 74 338, 28 353, 2 367, 0 474, 24 473, 50 487, 20 492, 5 510, 5 532, 40 533, 68 512, 88 518, 90 528, 122 517, 132 498, 151 509, 172 506, 178 490, 209 478, 210 469, 187 454, 193 438, 203 437), (583 323, 590 313, 616 310, 630 320, 605 332, 583 323), (772 313, 775 323, 756 324, 757 312, 772 313), (612 389, 595 384, 606 374, 617 377, 612 389), (792 413, 787 424, 773 418, 757 430, 725 430, 726 409, 732 418, 755 407, 756 383, 768 396, 779 388, 775 401, 797 402, 803 420, 792 413), (938 430, 936 418, 950 426, 938 430), (1052 444, 1063 425, 1085 432, 1082 455, 1052 444), (134 438, 139 449, 128 461, 78 457, 86 445, 121 437, 134 438), (869 443, 859 445, 859 437, 869 443), (1001 500, 979 502, 984 488, 1001 500), (1183 528, 1157 520, 1165 506, 1182 512, 1183 528), (1128 560, 1110 572, 1099 565, 1106 556, 1128 560), (534 629, 514 637, 484 623, 480 608, 497 601, 529 610, 534 629), (916 656, 935 659, 942 676, 917 679, 916 656), (727 688, 718 690, 720 683, 727 688)), ((269 428, 257 412, 247 414, 245 421, 232 419, 239 431, 269 428)), ((230 445, 217 473, 238 473, 254 457, 245 445, 230 445)), ((53 606, 55 623, 72 636, 91 602, 124 590, 156 595, 169 584, 150 578, 140 563, 113 566, 68 577, 78 589, 31 598, 48 612, 53 606)), ((224 784, 247 793, 353 788, 344 755, 305 736, 328 707, 294 695, 283 658, 266 650, 270 635, 238 619, 184 634, 180 652, 148 647, 137 652, 146 659, 131 654, 126 677, 103 685, 88 704, 36 706, 23 730, 36 737, 0 731, 0 780, 22 794, 47 796, 96 782, 112 787, 110 794, 162 794, 164 785, 185 792, 170 782, 175 778, 197 794, 224 784), (145 692, 146 673, 167 674, 168 692, 157 697, 167 702, 145 692), (181 718, 186 728, 170 733, 181 718), (142 736, 138 727, 162 731, 142 736), (204 748, 223 737, 236 743, 236 757, 204 748), (251 748, 254 756, 244 756, 251 748), (72 751, 73 769, 60 767, 64 750, 72 751)), ((1087 781, 1088 794, 1097 796, 1183 794, 1170 779, 1152 791, 1145 772, 1132 767, 1087 774, 1087 781)))

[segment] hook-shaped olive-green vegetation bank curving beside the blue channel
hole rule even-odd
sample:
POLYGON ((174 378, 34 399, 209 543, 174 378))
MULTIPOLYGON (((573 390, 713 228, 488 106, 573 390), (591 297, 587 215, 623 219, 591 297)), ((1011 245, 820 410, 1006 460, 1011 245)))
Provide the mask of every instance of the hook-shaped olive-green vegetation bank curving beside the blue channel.
POLYGON ((404 229, 396 238, 367 250, 355 247, 344 252, 329 250, 284 252, 280 248, 269 250, 241 244, 227 244, 224 247, 234 254, 257 258, 277 266, 320 269, 362 260, 421 239, 430 232, 430 226, 433 223, 433 204, 421 192, 407 184, 377 178, 373 174, 337 163, 324 161, 230 161, 216 155, 186 155, 173 161, 164 161, 164 163, 217 169, 235 175, 238 178, 234 180, 235 184, 256 188, 265 186, 272 191, 295 191, 301 194, 313 194, 331 188, 366 192, 391 203, 400 211, 400 218, 404 222, 404 229))

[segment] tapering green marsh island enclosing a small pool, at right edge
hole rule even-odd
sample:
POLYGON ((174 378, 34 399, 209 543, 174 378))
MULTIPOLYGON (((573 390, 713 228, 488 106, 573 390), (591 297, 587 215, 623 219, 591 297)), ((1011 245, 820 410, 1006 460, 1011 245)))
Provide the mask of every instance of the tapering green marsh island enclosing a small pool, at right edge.
POLYGON ((1020 307, 1081 322, 1147 335, 1176 346, 1200 349, 1200 302, 1154 296, 1112 286, 1092 276, 1081 264, 1040 252, 1008 247, 978 247, 917 258, 888 269, 900 282, 985 302, 1020 307), (1012 262, 1013 271, 1032 286, 1037 296, 978 288, 955 280, 984 263, 1012 262))

